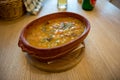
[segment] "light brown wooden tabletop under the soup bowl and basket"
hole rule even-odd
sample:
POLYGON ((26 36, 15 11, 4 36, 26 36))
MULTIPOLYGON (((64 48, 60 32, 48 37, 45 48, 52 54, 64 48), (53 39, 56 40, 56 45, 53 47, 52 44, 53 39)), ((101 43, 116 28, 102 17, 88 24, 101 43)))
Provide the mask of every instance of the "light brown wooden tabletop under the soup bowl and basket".
POLYGON ((93 11, 84 11, 77 0, 68 0, 66 11, 81 14, 91 23, 84 57, 78 65, 49 73, 28 64, 17 45, 20 32, 30 21, 58 12, 56 1, 45 0, 36 16, 0 20, 0 80, 120 80, 120 10, 106 0, 97 0, 93 11))

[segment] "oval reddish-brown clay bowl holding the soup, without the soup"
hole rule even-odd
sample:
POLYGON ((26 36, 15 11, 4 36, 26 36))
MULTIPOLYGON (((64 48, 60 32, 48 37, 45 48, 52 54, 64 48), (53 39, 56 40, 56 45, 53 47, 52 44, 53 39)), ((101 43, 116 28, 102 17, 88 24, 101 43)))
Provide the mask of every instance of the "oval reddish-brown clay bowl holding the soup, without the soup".
POLYGON ((67 53, 77 48, 79 44, 83 42, 83 40, 86 38, 89 31, 90 31, 89 21, 79 14, 72 13, 72 12, 52 13, 52 14, 48 14, 43 17, 40 17, 30 22, 28 25, 26 25, 20 34, 18 46, 21 47, 23 52, 27 52, 28 55, 31 55, 39 59, 40 61, 51 61, 51 60, 60 58, 61 56, 65 56, 67 55, 67 53), (60 17, 73 17, 82 21, 82 23, 85 24, 84 32, 77 39, 74 39, 64 45, 57 46, 54 48, 35 48, 27 42, 25 35, 28 28, 34 27, 34 25, 36 24, 41 24, 46 20, 51 20, 51 19, 60 18, 60 17))

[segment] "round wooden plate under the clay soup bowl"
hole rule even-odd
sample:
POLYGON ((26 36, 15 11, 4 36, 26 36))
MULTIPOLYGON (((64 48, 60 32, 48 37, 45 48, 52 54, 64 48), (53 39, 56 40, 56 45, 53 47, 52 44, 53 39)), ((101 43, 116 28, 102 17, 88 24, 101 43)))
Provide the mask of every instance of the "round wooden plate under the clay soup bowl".
POLYGON ((40 70, 47 72, 61 72, 73 68, 75 65, 77 65, 80 62, 80 60, 83 57, 82 52, 84 48, 85 48, 85 44, 81 43, 79 47, 77 47, 75 50, 68 53, 64 57, 49 62, 41 62, 27 53, 26 53, 26 58, 31 65, 39 68, 40 70))

